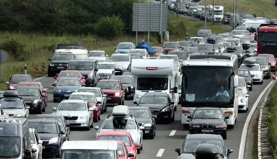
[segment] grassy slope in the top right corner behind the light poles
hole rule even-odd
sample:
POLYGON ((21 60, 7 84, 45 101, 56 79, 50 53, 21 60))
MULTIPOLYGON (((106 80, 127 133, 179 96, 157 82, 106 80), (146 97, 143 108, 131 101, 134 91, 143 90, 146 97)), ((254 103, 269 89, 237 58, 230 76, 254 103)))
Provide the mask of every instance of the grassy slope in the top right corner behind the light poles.
MULTIPOLYGON (((205 5, 205 1, 200 5, 205 5)), ((207 5, 212 5, 212 0, 207 0, 207 5)), ((214 0, 214 5, 224 7, 224 12, 234 12, 234 1, 214 0)), ((277 18, 277 7, 275 1, 271 0, 238 0, 238 11, 244 11, 244 14, 253 14, 256 17, 268 17, 268 19, 277 18)))

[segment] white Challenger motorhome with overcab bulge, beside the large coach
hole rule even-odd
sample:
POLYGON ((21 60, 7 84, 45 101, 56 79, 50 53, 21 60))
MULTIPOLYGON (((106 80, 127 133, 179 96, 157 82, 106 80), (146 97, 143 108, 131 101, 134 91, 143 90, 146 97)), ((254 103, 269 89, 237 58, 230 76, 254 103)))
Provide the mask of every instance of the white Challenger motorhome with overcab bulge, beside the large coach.
MULTIPOLYGON (((135 91, 134 102, 146 92, 166 92, 175 102, 175 110, 178 104, 178 86, 181 86, 181 75, 174 65, 174 59, 133 59, 131 66, 133 75, 133 88, 135 91), (166 87, 160 88, 161 84, 166 87)), ((134 106, 137 106, 134 104, 134 106)))

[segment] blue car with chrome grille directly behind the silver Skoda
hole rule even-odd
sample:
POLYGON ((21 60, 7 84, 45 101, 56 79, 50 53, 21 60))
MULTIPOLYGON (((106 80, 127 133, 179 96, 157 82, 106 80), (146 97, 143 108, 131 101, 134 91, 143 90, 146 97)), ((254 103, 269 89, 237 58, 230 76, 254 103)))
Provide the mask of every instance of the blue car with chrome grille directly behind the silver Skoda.
POLYGON ((52 84, 54 86, 53 91, 53 102, 58 102, 58 100, 68 99, 73 92, 77 92, 79 88, 84 87, 78 78, 60 78, 57 84, 52 84))

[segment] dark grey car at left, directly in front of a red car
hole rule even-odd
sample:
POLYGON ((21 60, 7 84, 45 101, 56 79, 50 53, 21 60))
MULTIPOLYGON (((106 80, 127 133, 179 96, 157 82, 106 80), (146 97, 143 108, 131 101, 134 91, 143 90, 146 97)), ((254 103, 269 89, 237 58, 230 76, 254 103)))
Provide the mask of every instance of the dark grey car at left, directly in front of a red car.
POLYGON ((45 112, 45 94, 41 88, 38 86, 21 86, 16 90, 26 105, 30 107, 30 111, 36 111, 39 114, 45 112))

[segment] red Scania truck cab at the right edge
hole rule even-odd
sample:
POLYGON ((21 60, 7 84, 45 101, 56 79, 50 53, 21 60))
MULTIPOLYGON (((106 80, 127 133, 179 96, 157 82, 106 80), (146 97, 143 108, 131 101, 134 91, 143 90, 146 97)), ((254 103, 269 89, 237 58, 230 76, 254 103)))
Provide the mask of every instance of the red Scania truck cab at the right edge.
POLYGON ((257 30, 257 55, 268 53, 277 58, 277 24, 261 24, 257 30))

